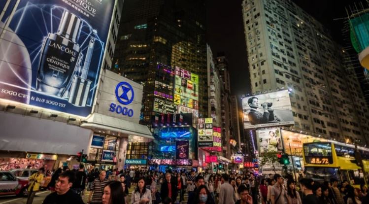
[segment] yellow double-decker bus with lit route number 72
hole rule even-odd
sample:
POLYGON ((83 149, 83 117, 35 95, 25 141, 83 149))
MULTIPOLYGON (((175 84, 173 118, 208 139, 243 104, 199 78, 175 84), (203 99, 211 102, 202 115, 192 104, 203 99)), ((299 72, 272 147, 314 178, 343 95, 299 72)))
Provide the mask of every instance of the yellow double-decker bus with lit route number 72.
POLYGON ((357 147, 363 168, 357 165, 355 146, 336 141, 309 142, 303 144, 305 177, 317 181, 336 178, 347 180, 355 187, 367 184, 369 178, 369 149, 357 147))

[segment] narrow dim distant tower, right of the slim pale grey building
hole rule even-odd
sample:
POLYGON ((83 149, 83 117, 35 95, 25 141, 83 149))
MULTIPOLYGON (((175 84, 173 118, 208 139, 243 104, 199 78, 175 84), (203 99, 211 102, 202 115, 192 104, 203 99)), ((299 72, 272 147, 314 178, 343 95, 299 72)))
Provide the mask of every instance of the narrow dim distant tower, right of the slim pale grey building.
POLYGON ((231 87, 230 75, 228 72, 228 60, 223 52, 217 54, 216 67, 221 79, 221 120, 222 120, 222 146, 223 156, 230 158, 232 151, 230 145, 231 138, 231 87))

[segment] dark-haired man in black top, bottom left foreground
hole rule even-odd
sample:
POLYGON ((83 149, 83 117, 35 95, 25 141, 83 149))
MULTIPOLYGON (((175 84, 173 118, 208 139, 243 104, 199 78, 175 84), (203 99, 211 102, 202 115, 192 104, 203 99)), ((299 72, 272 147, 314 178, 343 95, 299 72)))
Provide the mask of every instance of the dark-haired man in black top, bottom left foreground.
POLYGON ((46 196, 42 204, 84 204, 81 196, 70 189, 74 180, 73 171, 63 171, 55 184, 55 192, 46 196))

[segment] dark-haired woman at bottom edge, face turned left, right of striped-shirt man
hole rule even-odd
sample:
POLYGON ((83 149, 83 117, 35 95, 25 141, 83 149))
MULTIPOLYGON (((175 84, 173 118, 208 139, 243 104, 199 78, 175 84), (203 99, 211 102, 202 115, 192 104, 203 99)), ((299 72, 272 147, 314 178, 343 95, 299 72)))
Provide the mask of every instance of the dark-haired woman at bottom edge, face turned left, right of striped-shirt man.
MULTIPOLYGON (((113 173, 114 172, 115 171, 113 171, 113 173)), ((124 195, 125 193, 121 182, 109 181, 104 187, 102 204, 126 204, 124 195)))

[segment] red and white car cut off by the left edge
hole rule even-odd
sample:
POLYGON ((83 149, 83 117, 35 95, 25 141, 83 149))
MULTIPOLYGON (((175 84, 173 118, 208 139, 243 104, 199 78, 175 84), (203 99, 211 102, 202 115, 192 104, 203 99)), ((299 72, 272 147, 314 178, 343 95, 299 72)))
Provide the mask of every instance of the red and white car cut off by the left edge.
POLYGON ((0 171, 0 196, 27 196, 28 181, 20 180, 10 171, 0 171))

